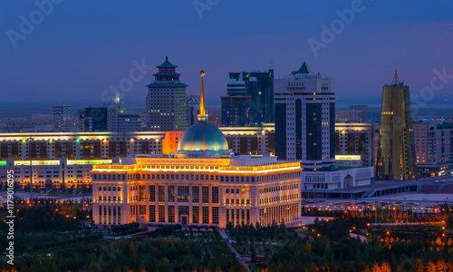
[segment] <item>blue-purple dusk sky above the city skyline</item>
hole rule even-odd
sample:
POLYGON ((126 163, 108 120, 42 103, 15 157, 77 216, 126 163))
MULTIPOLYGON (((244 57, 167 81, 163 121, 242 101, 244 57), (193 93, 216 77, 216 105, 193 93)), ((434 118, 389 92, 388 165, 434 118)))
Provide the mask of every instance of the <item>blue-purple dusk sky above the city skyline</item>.
MULTIPOLYGON (((335 78, 337 99, 379 100, 395 63, 412 94, 429 86, 433 69, 453 74, 451 1, 363 1, 317 56, 309 39, 323 43, 322 25, 331 29, 341 19, 336 10, 357 1, 198 0, 198 11, 191 0, 59 1, 43 18, 33 1, 0 2, 2 102, 101 104, 102 91, 128 78, 134 61, 156 66, 166 55, 188 94, 198 94, 205 70, 207 102, 217 105, 229 72, 274 68, 281 77, 304 61, 335 78), (31 15, 43 22, 21 33, 21 16, 31 15)), ((145 106, 155 70, 123 92, 126 104, 145 106)), ((453 93, 447 81, 433 100, 453 93)))

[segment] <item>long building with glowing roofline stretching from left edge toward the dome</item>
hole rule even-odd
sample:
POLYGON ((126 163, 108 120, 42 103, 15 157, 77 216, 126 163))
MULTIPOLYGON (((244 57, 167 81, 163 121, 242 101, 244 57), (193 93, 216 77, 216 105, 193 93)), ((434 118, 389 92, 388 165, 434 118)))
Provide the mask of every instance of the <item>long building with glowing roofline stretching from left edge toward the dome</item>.
POLYGON ((165 135, 150 131, 0 133, 0 160, 111 160, 161 154, 165 135))

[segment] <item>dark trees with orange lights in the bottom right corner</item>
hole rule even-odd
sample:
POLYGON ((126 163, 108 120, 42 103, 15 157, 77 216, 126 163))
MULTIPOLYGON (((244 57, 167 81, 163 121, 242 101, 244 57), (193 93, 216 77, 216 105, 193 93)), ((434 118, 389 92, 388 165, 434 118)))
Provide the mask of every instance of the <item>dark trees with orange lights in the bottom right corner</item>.
MULTIPOLYGON (((357 223, 357 222, 356 222, 357 223)), ((316 221, 313 242, 288 240, 265 257, 265 271, 453 271, 453 241, 438 233, 381 230, 386 238, 368 243, 349 238, 348 219, 316 221)), ((378 233, 380 231, 377 231, 378 233)))

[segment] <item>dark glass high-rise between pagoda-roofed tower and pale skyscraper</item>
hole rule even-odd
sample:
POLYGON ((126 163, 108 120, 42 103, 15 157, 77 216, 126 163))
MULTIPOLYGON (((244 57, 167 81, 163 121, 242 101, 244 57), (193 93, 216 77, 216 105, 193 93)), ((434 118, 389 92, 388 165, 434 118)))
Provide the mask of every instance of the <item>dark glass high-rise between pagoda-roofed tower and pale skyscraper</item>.
POLYGON ((245 126, 248 123, 249 126, 263 126, 264 123, 274 122, 273 69, 229 73, 226 94, 227 96, 221 98, 222 124, 245 126), (247 102, 247 111, 244 110, 246 100, 250 101, 247 102), (238 111, 242 114, 230 114, 238 111))

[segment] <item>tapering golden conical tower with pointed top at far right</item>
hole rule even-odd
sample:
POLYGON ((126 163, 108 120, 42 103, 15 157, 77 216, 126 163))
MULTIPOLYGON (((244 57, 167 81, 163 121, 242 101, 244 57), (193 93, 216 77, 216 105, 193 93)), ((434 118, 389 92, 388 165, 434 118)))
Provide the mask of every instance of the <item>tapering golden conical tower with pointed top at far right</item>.
POLYGON ((380 180, 417 177, 409 86, 395 76, 382 91, 381 130, 376 176, 380 180))

